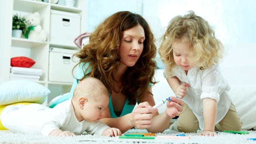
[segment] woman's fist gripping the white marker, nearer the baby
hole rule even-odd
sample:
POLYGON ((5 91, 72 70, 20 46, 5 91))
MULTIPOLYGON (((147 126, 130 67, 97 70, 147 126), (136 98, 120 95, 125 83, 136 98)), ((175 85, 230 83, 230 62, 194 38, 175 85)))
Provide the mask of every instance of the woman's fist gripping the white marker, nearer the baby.
POLYGON ((158 112, 157 108, 152 108, 148 102, 142 102, 134 109, 134 125, 139 129, 151 127, 154 112, 158 112))

